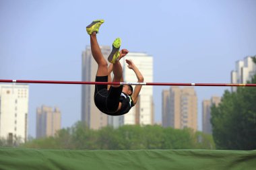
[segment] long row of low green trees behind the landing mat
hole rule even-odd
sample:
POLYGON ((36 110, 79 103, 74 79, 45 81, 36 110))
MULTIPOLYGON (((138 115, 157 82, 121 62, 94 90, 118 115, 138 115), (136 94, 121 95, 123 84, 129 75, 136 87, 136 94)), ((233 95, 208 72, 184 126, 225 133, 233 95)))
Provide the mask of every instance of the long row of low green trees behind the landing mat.
POLYGON ((34 139, 21 146, 110 150, 215 148, 212 135, 194 132, 189 128, 181 130, 158 125, 125 125, 92 130, 84 122, 77 122, 71 128, 63 128, 54 137, 34 139))

